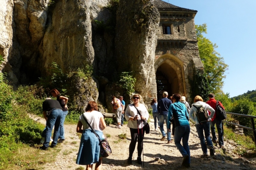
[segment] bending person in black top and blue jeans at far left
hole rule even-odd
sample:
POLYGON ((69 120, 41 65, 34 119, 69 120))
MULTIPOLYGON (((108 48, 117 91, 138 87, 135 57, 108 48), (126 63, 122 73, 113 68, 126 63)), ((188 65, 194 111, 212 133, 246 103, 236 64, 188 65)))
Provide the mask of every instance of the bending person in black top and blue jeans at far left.
POLYGON ((53 141, 51 147, 57 145, 59 129, 61 124, 61 118, 63 116, 62 107, 58 101, 46 98, 43 102, 43 115, 46 120, 45 138, 41 150, 48 150, 49 143, 51 140, 52 129, 54 126, 53 141))

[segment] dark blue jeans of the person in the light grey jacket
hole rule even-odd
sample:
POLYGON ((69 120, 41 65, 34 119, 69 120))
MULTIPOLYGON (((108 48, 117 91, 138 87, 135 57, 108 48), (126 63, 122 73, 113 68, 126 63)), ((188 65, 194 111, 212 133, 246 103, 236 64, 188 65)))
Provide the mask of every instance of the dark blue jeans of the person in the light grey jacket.
POLYGON ((196 124, 195 127, 198 132, 198 137, 201 142, 201 148, 203 150, 203 153, 207 154, 207 146, 205 144, 204 135, 205 135, 208 147, 213 147, 212 140, 210 138, 210 122, 208 121, 204 124, 196 124))

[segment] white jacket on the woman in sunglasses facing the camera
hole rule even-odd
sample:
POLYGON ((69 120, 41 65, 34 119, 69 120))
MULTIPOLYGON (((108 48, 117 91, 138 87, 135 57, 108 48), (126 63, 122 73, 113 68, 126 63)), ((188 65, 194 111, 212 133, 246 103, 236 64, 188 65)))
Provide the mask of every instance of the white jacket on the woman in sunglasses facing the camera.
MULTIPOLYGON (((140 114, 145 118, 145 121, 148 121, 148 110, 147 108, 144 106, 144 104, 139 104, 139 106, 137 107, 137 109, 140 111, 140 114)), ((137 124, 139 124, 139 128, 141 129, 143 126, 141 126, 141 120, 140 120, 140 116, 139 116, 139 120, 137 122, 137 120, 129 120, 131 117, 135 117, 135 115, 139 115, 139 113, 137 113, 137 109, 134 107, 134 105, 129 104, 125 110, 125 118, 126 120, 128 120, 128 124, 127 127, 133 128, 133 129, 137 129, 138 126, 137 124)))

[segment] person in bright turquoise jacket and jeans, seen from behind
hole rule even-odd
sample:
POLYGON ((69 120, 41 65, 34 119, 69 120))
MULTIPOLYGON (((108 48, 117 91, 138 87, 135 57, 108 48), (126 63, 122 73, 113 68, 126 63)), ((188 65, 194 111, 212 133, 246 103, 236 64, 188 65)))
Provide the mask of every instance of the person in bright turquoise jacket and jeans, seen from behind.
MULTIPOLYGON (((190 167, 190 150, 189 150, 189 115, 184 104, 180 102, 180 94, 176 93, 172 97, 173 104, 169 107, 168 119, 175 121, 175 138, 174 142, 181 155, 183 156, 182 166, 190 167), (182 139, 182 145, 180 141, 182 139)), ((171 131, 171 124, 168 123, 168 131, 171 131)))

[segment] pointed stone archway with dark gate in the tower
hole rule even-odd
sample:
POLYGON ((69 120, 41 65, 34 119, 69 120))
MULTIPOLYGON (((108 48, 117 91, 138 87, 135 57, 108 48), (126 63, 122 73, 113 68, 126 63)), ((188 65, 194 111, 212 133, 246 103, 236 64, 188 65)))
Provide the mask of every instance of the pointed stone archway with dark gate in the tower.
POLYGON ((183 62, 171 54, 160 56, 154 64, 157 99, 163 97, 163 92, 167 91, 169 96, 180 93, 186 96, 183 62))

